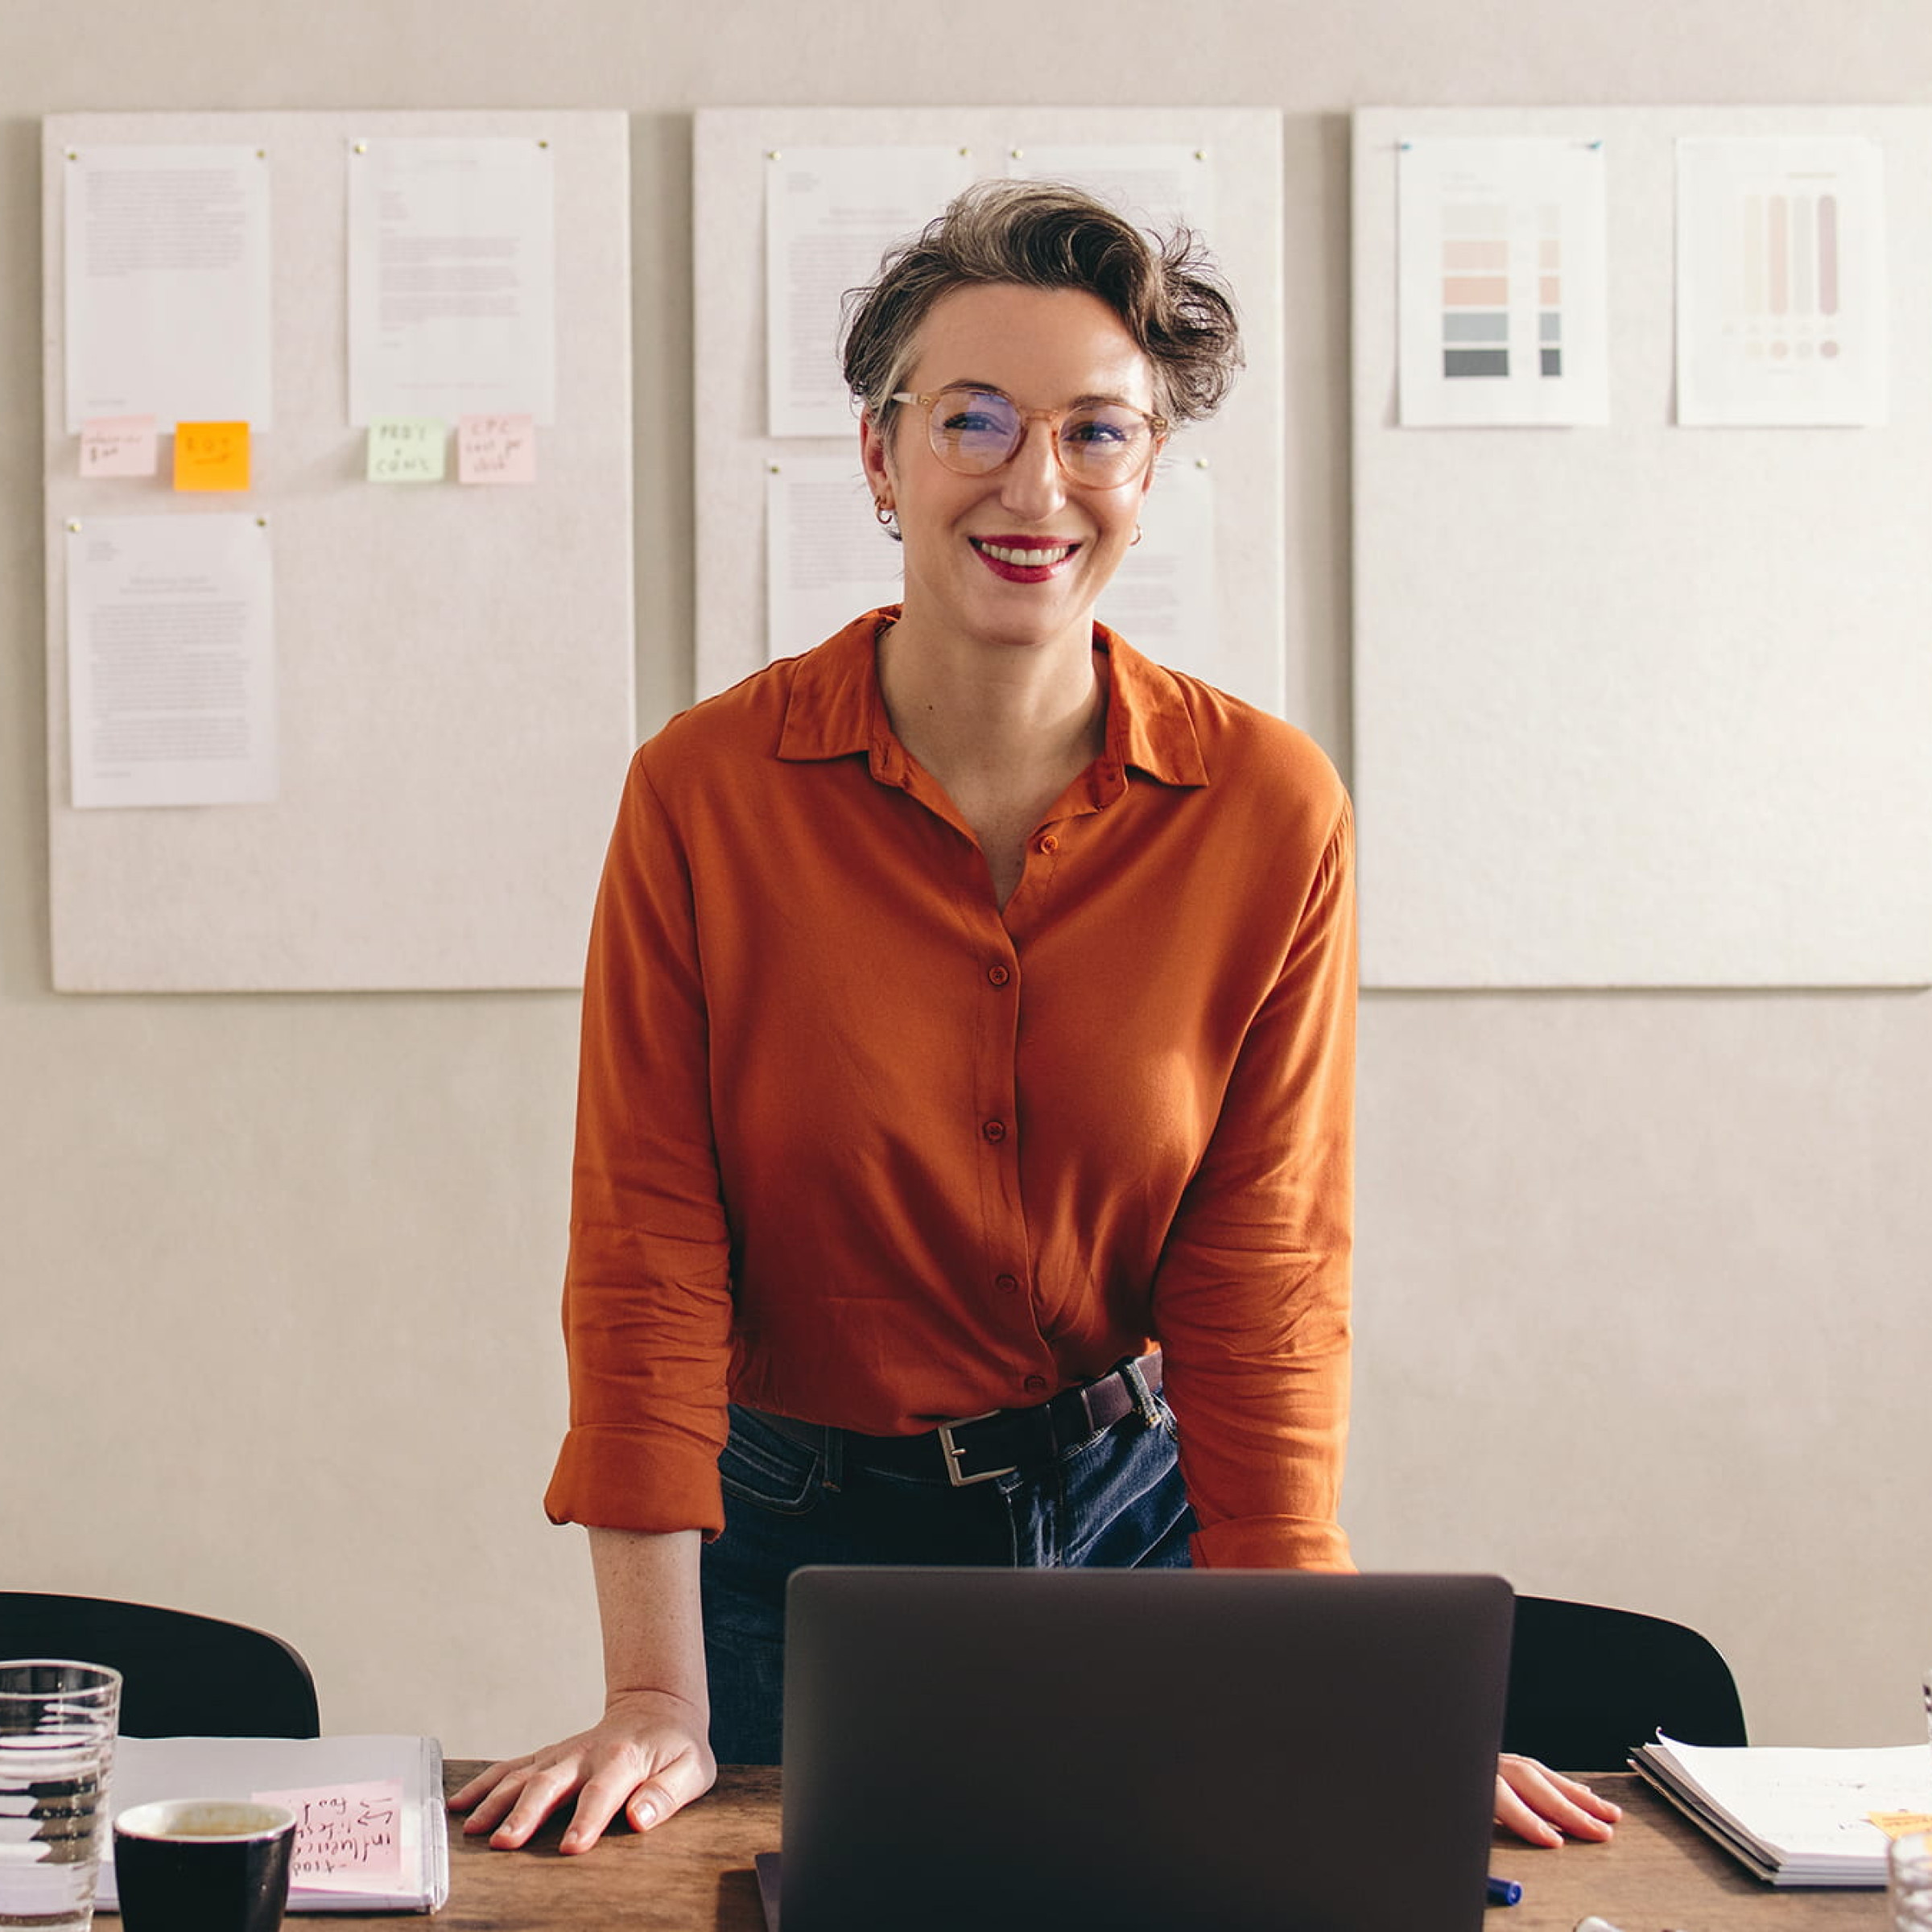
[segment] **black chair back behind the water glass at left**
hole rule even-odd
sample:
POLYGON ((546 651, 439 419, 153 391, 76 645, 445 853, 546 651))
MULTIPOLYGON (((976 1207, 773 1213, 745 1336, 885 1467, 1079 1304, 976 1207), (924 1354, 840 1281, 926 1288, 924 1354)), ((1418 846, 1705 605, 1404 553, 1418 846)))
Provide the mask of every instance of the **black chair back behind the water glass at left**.
POLYGON ((153 1604, 0 1590, 0 1656, 122 1673, 126 1737, 319 1737, 315 1679, 267 1631, 153 1604))

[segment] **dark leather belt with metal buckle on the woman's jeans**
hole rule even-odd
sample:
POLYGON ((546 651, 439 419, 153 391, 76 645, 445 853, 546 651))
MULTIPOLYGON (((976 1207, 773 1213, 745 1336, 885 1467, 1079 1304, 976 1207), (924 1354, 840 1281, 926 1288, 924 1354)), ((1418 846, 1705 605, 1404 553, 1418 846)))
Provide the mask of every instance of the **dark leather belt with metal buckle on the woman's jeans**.
MULTIPOLYGON (((937 1482, 966 1490, 1051 1463, 1063 1449, 1111 1430, 1140 1410, 1151 1420, 1151 1397, 1161 1393, 1161 1350, 1122 1362, 1113 1374, 1063 1389, 1037 1408, 993 1408, 962 1422, 943 1422, 923 1435, 860 1435, 838 1430, 846 1468, 937 1482)), ((781 1435, 823 1447, 827 1428, 752 1410, 781 1435)))

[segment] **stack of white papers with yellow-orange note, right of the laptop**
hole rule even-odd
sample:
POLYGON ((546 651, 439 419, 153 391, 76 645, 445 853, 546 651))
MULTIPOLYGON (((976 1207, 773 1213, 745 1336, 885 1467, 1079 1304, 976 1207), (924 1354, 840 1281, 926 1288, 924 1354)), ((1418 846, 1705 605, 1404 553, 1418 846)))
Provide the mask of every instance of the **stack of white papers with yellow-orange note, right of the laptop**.
POLYGON ((1631 1758, 1681 1812, 1774 1886, 1882 1886, 1886 1832, 1932 1812, 1932 1752, 1719 1748, 1658 1733, 1631 1758))

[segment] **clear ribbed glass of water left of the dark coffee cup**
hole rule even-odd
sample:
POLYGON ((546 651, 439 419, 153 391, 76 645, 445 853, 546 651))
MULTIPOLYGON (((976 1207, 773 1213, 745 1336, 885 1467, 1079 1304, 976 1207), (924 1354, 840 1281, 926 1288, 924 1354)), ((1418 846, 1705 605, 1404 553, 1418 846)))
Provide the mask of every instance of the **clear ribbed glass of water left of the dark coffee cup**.
POLYGON ((0 1662, 0 1926, 87 1932, 108 1822, 120 1671, 0 1662))

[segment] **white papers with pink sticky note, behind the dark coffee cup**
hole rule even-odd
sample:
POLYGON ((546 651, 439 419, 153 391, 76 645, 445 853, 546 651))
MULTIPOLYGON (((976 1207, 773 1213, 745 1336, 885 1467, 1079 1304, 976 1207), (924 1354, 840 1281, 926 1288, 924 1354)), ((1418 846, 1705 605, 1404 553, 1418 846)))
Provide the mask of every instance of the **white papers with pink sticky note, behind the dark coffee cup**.
MULTIPOLYGON (((433 1913, 450 1895, 442 1747, 433 1737, 124 1737, 114 1812, 253 1799, 296 1814, 292 1913, 433 1913)), ((100 1861, 95 1907, 118 1909, 100 1861)))

